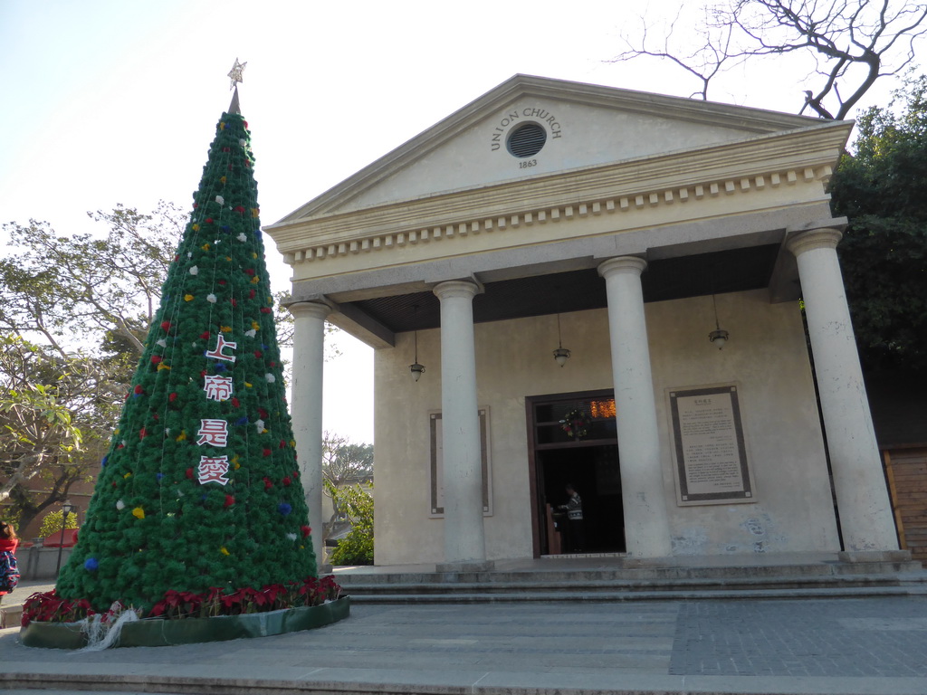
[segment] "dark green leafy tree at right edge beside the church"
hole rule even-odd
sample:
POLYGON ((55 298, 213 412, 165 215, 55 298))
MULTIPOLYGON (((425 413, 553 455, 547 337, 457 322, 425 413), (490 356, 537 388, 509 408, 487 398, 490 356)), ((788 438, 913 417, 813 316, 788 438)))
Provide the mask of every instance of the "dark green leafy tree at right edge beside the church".
POLYGON ((850 226, 838 246, 865 369, 927 373, 927 77, 858 120, 831 183, 850 226))

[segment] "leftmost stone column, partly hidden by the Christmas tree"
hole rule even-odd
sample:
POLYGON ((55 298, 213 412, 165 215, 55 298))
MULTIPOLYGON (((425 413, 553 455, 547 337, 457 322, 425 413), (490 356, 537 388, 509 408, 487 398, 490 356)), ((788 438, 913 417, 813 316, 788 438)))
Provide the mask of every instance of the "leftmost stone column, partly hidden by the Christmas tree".
POLYGON ((325 317, 331 308, 318 302, 298 302, 291 304, 289 310, 296 319, 290 415, 297 443, 299 474, 309 506, 312 548, 322 571, 322 379, 325 317))

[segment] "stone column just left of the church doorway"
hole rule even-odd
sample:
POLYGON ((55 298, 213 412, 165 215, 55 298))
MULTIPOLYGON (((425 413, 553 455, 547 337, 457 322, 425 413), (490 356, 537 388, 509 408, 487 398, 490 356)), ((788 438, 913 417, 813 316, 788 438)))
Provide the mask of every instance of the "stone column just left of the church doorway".
POLYGON ((483 471, 476 405, 474 283, 438 284, 441 301, 441 428, 444 437, 444 564, 483 569, 483 471))

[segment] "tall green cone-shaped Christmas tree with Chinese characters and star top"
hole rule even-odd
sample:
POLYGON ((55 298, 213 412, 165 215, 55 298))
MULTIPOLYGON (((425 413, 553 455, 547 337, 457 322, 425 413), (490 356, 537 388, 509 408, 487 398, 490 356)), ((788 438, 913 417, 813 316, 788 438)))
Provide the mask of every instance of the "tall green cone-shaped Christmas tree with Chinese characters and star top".
MULTIPOLYGON (((230 76, 240 82, 240 72, 230 76)), ((253 166, 235 86, 58 578, 63 599, 147 610, 170 589, 232 591, 316 574, 253 166)))

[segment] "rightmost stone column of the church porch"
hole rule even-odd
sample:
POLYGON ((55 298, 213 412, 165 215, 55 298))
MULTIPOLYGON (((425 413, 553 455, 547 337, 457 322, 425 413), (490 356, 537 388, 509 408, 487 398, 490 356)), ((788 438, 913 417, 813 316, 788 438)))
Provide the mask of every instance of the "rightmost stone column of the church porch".
POLYGON ((844 550, 897 550, 895 518, 837 259, 842 235, 836 229, 810 230, 790 239, 788 247, 798 261, 844 550))

